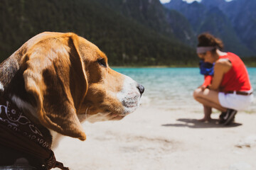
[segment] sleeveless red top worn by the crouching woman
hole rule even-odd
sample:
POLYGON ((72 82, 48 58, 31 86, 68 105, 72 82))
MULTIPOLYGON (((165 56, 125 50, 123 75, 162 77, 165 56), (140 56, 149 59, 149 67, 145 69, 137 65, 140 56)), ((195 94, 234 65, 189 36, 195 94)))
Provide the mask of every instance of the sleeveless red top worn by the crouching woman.
POLYGON ((224 74, 220 84, 220 91, 250 91, 249 74, 240 57, 228 52, 227 55, 220 56, 220 59, 223 58, 230 60, 232 67, 224 74))

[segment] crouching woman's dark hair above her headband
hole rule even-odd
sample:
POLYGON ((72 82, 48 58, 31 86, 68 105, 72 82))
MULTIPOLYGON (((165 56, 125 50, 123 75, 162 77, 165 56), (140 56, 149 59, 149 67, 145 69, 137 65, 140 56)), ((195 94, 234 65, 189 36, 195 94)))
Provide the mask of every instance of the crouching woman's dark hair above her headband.
POLYGON ((202 33, 198 35, 198 47, 216 47, 223 50, 223 42, 219 38, 215 38, 210 33, 202 33))

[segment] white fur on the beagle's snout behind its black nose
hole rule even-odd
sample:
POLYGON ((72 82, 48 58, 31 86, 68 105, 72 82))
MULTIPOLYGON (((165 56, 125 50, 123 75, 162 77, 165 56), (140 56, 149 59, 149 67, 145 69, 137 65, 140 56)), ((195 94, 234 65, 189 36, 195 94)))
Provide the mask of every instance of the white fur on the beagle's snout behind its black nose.
POLYGON ((117 98, 124 106, 124 115, 134 112, 139 106, 141 94, 137 86, 136 81, 124 75, 122 90, 117 93, 117 98))

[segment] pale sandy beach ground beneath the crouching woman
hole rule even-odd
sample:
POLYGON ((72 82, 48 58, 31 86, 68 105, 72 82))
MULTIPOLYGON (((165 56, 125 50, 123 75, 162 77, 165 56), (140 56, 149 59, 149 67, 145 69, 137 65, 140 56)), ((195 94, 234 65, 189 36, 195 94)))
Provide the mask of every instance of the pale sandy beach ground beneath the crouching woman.
POLYGON ((87 140, 64 137, 55 156, 75 170, 254 170, 256 114, 239 112, 235 123, 199 123, 201 106, 141 106, 119 121, 83 123, 87 140))

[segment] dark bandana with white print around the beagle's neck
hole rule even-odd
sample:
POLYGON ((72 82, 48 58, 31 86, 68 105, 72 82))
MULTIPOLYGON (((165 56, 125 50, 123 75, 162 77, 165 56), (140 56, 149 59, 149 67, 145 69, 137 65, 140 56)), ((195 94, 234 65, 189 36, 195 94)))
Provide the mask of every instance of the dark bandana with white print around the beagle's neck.
POLYGON ((11 166, 24 157, 36 169, 49 170, 58 167, 68 170, 57 162, 50 143, 34 123, 13 103, 0 97, 0 169, 11 166))

